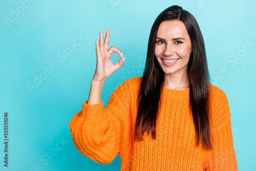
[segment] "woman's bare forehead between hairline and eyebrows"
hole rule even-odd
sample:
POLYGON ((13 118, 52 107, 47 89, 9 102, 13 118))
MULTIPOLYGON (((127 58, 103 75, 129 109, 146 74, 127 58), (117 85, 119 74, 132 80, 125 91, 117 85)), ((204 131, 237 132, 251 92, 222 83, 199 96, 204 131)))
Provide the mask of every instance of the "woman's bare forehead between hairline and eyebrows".
POLYGON ((186 26, 179 20, 167 20, 159 25, 157 36, 159 37, 187 37, 186 26))

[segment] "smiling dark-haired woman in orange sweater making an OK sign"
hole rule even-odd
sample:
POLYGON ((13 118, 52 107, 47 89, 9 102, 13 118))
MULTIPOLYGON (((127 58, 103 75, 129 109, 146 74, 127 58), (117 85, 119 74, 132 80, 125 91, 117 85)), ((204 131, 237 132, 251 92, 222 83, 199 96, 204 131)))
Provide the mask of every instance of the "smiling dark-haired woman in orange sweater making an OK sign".
POLYGON ((76 148, 102 164, 120 154, 121 170, 237 170, 228 100, 209 83, 194 16, 171 6, 156 18, 143 76, 124 81, 103 109, 103 83, 125 59, 108 50, 109 38, 107 29, 104 41, 101 31, 95 39, 90 95, 70 122, 76 148))

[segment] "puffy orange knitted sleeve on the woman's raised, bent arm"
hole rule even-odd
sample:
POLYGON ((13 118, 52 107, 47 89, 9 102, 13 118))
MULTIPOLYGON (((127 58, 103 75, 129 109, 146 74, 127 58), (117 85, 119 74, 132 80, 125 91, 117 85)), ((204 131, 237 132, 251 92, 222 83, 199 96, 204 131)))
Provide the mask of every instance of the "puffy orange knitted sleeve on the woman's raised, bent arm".
POLYGON ((88 105, 70 121, 70 132, 75 147, 88 158, 109 164, 122 151, 122 142, 129 134, 129 101, 127 80, 110 96, 103 109, 103 102, 88 105))

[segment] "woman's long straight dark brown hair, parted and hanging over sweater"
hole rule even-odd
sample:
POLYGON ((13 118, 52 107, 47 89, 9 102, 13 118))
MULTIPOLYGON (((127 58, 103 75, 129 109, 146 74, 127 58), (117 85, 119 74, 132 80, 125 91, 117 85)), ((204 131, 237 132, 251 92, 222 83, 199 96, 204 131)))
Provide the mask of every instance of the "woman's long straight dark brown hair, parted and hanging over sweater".
POLYGON ((212 149, 210 137, 211 112, 209 104, 209 72, 207 68, 205 45, 201 30, 195 17, 182 7, 174 5, 166 8, 156 18, 148 39, 146 64, 138 94, 138 114, 135 123, 134 140, 141 141, 139 135, 147 131, 152 132, 156 139, 156 120, 159 100, 164 83, 164 72, 161 69, 155 54, 155 43, 158 27, 165 20, 180 20, 184 23, 189 34, 192 52, 188 61, 189 77, 189 107, 193 114, 196 130, 197 146, 202 137, 203 148, 212 149))

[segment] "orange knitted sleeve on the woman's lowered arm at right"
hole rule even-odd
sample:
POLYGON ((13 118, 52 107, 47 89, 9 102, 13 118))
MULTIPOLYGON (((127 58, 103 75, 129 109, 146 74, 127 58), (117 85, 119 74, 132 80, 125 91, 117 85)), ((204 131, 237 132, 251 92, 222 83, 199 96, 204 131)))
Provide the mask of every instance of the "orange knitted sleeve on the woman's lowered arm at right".
POLYGON ((215 103, 212 113, 212 151, 210 164, 207 170, 210 171, 234 171, 237 168, 237 158, 234 153, 231 120, 227 96, 219 89, 215 94, 215 103))

